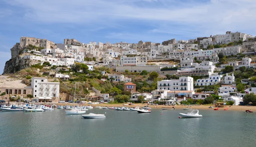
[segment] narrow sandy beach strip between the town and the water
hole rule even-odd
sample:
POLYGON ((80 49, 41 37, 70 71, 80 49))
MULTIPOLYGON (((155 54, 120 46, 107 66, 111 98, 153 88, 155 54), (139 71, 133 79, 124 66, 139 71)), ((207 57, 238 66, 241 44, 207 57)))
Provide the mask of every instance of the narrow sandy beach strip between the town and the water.
MULTIPOLYGON (((23 104, 26 104, 26 103, 23 103, 23 102, 20 102, 20 103, 17 103, 17 102, 10 102, 10 104, 13 104, 13 105, 23 105, 23 104)), ((29 104, 42 104, 42 105, 70 105, 70 106, 76 106, 76 105, 82 105, 82 106, 88 106, 88 105, 91 105, 93 107, 96 107, 96 106, 102 106, 102 107, 123 107, 123 104, 109 104, 109 103, 104 103, 104 104, 77 104, 77 103, 29 103, 29 104)), ((127 106, 124 106, 124 107, 137 107, 137 106, 140 106, 141 107, 145 107, 145 106, 149 106, 151 107, 152 109, 162 109, 162 107, 169 107, 169 108, 172 108, 172 107, 175 107, 175 109, 183 109, 184 107, 188 107, 188 106, 184 106, 184 105, 177 105, 177 106, 165 106, 165 105, 146 105, 146 104, 134 104, 134 105, 127 105, 127 106)), ((190 108, 192 109, 198 109, 198 110, 213 110, 215 108, 214 105, 199 105, 199 106, 191 106, 190 108), (212 106, 213 108, 209 108, 209 106, 212 106)), ((256 111, 256 106, 224 106, 224 107, 219 107, 218 110, 224 110, 225 108, 228 108, 227 110, 231 110, 231 111, 245 111, 245 110, 252 110, 252 111, 256 111)))

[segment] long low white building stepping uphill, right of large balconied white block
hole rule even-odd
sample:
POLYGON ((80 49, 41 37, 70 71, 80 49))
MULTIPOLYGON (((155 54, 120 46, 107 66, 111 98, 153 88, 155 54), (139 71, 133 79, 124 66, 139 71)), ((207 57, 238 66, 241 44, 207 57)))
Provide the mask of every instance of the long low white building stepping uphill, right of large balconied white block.
POLYGON ((197 79, 196 86, 215 85, 221 82, 221 75, 209 75, 208 79, 197 79))

